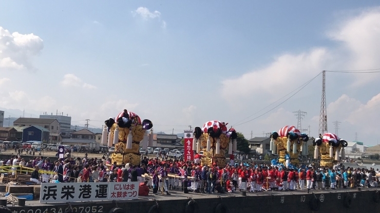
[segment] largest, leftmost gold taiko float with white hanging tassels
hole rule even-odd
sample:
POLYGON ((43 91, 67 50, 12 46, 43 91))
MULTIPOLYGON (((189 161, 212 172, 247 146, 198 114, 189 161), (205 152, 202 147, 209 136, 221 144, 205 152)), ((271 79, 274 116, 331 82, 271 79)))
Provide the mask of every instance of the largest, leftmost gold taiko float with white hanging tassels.
POLYGON ((153 127, 152 122, 146 119, 141 122, 137 114, 124 110, 116 119, 106 120, 105 124, 102 142, 107 140, 108 131, 108 146, 115 145, 115 151, 111 155, 112 163, 117 162, 120 165, 124 162, 139 165, 140 143, 143 143, 145 150, 148 143, 153 143, 153 133, 147 134, 147 130, 153 127))

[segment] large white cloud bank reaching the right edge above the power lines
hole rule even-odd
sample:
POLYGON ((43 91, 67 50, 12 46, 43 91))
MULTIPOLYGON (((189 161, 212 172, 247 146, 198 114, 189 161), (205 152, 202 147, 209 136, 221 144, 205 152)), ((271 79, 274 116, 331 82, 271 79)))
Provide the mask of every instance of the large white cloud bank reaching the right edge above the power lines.
MULTIPOLYGON (((348 19, 328 33, 336 48, 319 47, 300 54, 283 54, 263 69, 222 81, 223 97, 231 100, 253 94, 276 95, 292 87, 295 78, 311 79, 322 70, 362 70, 380 67, 380 8, 348 19)), ((351 86, 363 86, 379 75, 350 74, 351 86)), ((347 76, 347 75, 346 75, 347 76)), ((303 81, 302 81, 303 82, 303 81)), ((297 86, 300 83, 297 83, 297 86)))

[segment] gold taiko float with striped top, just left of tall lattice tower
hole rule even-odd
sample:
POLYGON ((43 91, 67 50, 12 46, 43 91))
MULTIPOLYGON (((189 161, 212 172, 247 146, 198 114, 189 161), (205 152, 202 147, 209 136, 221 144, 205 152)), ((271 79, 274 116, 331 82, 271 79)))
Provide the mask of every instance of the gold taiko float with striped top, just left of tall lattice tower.
POLYGON ((284 165, 286 165, 286 163, 291 163, 295 166, 299 164, 298 156, 300 155, 301 150, 305 152, 307 149, 306 142, 308 140, 308 135, 301 134, 295 126, 284 126, 278 131, 278 133, 272 133, 270 150, 273 154, 279 155, 278 161, 280 163, 284 165))

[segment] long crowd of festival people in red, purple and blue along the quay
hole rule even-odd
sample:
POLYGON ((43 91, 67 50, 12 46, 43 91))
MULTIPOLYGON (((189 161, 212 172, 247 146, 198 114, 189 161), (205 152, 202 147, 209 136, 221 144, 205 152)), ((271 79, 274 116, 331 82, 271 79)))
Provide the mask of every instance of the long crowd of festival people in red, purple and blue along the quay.
POLYGON ((30 181, 41 182, 139 182, 142 191, 153 194, 158 191, 170 195, 169 190, 183 190, 185 193, 233 193, 246 190, 256 193, 270 190, 335 189, 355 187, 378 187, 378 169, 344 167, 318 167, 314 164, 283 166, 275 159, 271 165, 263 163, 234 163, 224 167, 201 166, 199 161, 182 159, 142 158, 140 165, 111 162, 110 158, 72 158, 51 162, 43 156, 25 162, 19 156, 12 156, 6 165, 22 165, 34 168, 30 181), (47 172, 50 173, 47 173, 47 172), (51 174, 54 175, 51 175, 51 174))

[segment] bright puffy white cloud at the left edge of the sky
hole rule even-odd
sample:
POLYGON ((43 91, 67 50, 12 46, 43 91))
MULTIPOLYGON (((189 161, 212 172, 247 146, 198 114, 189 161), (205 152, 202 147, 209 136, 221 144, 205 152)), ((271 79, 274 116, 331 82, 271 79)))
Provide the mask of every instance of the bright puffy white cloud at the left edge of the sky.
POLYGON ((0 27, 0 71, 33 69, 31 60, 43 48, 43 40, 33 33, 10 33, 0 27))

